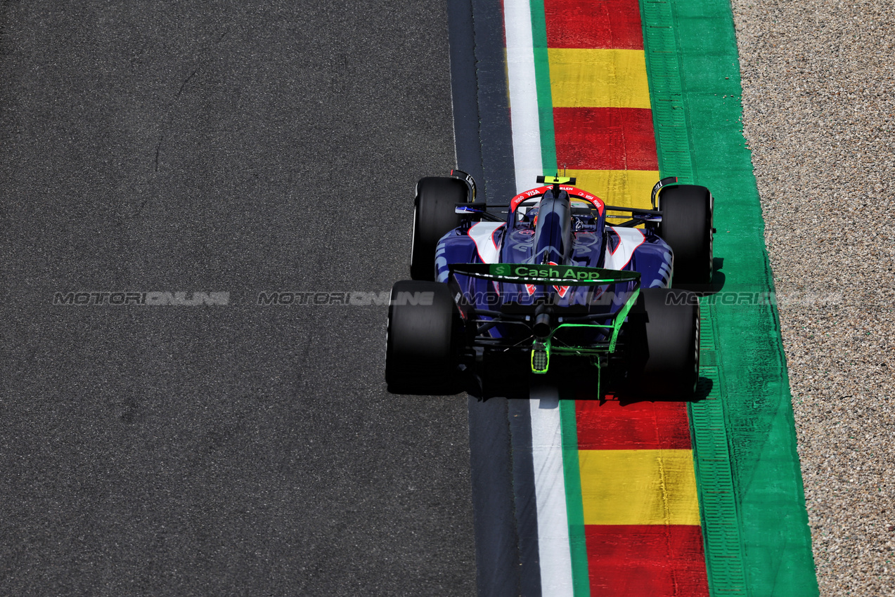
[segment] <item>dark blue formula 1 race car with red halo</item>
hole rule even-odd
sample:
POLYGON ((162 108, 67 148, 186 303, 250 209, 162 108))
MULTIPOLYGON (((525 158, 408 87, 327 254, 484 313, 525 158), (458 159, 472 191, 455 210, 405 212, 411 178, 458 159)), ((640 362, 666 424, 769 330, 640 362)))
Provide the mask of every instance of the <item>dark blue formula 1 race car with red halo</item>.
POLYGON ((574 178, 537 182, 491 208, 465 172, 417 183, 413 280, 395 283, 388 309, 388 390, 456 393, 507 366, 539 375, 565 361, 589 367, 598 395, 691 396, 699 304, 680 289, 712 281, 709 189, 662 179, 652 209, 636 209, 574 178))

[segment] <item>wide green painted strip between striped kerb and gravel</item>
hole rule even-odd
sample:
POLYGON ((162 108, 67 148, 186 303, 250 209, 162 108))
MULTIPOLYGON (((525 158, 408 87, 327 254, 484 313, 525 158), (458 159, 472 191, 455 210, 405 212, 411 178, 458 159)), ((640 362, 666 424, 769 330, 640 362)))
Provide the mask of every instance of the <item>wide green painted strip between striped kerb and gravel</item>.
MULTIPOLYGON (((641 0, 641 13, 661 173, 712 189, 722 291, 773 290, 729 0, 641 0)), ((733 302, 703 299, 712 391, 690 408, 710 590, 816 595, 778 314, 733 302)))

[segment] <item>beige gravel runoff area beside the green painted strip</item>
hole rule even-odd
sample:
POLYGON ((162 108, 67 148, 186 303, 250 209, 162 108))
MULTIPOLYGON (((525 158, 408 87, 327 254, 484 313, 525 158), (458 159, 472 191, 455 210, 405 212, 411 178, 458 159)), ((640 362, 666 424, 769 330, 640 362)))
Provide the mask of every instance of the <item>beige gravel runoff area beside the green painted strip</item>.
POLYGON ((822 595, 895 595, 891 0, 733 0, 822 595))

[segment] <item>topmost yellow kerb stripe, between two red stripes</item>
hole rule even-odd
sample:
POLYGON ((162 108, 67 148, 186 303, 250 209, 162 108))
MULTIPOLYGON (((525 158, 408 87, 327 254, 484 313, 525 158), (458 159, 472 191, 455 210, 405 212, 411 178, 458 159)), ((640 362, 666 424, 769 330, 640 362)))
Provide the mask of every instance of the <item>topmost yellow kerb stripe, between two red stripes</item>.
POLYGON ((649 108, 643 50, 548 49, 553 107, 649 108))

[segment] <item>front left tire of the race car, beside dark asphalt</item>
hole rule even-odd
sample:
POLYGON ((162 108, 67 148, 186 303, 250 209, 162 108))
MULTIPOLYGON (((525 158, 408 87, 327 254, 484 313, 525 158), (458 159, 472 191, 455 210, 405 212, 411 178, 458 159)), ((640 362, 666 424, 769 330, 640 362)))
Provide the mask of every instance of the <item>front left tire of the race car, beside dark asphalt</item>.
POLYGON ((435 280, 435 248, 447 232, 461 223, 456 204, 466 203, 469 188, 465 181, 445 176, 429 176, 416 184, 413 209, 413 245, 410 277, 435 280))

